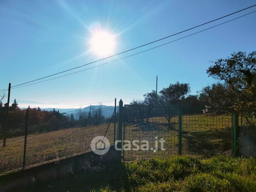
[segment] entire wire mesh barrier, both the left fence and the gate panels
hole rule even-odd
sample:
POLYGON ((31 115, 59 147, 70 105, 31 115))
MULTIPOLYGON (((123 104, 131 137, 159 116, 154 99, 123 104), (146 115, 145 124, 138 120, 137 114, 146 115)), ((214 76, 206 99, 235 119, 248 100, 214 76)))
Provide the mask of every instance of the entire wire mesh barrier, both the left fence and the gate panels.
MULTIPOLYGON (((95 136, 106 136, 114 145, 118 110, 97 106, 90 112, 78 109, 74 116, 27 109, 16 119, 10 116, 8 126, 0 124, 0 174, 89 152, 95 136)), ((123 126, 123 142, 149 145, 147 150, 123 150, 124 160, 173 155, 207 158, 232 149, 233 115, 228 109, 124 105, 123 126)))

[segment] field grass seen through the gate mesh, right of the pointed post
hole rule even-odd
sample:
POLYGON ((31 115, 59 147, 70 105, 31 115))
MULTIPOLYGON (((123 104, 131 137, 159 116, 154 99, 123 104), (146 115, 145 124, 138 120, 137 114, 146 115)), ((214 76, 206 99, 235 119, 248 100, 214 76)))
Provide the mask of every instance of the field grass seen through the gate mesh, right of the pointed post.
MULTIPOLYGON (((231 153, 231 115, 190 114, 182 116, 182 154, 209 158, 231 153)), ((125 140, 148 140, 153 147, 155 137, 165 140, 165 151, 125 151, 126 160, 178 155, 178 116, 171 118, 171 129, 164 116, 127 122, 125 140)))

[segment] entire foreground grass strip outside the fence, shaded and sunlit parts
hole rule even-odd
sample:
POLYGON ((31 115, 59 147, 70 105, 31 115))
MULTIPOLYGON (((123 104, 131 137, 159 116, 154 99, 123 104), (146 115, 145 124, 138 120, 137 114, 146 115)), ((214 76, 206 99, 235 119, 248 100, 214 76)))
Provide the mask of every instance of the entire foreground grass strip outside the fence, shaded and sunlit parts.
POLYGON ((176 156, 107 163, 21 191, 255 191, 256 159, 176 156))

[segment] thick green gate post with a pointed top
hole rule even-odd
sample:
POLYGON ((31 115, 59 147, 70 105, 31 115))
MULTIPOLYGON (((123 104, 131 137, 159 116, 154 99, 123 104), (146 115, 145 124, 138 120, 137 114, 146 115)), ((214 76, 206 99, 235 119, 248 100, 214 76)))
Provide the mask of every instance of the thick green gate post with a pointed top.
POLYGON ((120 99, 119 101, 119 113, 118 113, 118 132, 117 132, 117 148, 120 149, 117 152, 118 160, 122 160, 122 125, 123 125, 123 101, 120 99))

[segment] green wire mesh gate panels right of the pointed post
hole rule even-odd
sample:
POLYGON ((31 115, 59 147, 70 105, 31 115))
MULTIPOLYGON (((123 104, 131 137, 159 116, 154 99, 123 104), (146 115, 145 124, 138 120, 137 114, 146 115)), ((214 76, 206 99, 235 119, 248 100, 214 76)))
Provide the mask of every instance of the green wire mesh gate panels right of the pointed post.
POLYGON ((123 150, 123 158, 229 154, 232 125, 229 109, 124 105, 124 144, 138 140, 143 145, 146 140, 149 147, 123 150))

